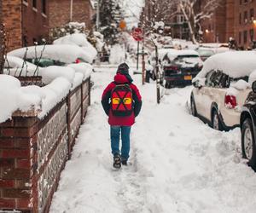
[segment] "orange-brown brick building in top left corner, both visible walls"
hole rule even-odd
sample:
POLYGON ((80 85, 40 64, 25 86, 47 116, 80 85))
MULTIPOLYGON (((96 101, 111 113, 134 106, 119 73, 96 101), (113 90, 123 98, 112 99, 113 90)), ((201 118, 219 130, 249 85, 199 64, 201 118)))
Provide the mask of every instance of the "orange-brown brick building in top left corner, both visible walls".
POLYGON ((49 35, 49 0, 2 1, 8 50, 40 42, 49 35))

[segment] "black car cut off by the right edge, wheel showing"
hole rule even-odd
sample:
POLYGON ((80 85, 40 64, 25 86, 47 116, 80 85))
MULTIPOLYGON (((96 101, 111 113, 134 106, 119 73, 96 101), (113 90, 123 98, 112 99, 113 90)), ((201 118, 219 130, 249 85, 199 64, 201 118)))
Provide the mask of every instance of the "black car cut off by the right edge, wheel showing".
POLYGON ((247 158, 248 165, 256 170, 256 81, 252 89, 241 110, 241 153, 243 158, 247 158))

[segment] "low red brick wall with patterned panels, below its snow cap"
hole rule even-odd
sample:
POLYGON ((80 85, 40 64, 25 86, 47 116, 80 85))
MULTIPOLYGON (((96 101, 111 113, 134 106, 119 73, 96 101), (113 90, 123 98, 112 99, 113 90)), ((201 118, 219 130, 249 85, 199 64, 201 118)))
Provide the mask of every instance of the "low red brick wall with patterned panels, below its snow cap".
POLYGON ((89 105, 90 78, 44 119, 19 112, 0 124, 0 211, 49 212, 89 105))

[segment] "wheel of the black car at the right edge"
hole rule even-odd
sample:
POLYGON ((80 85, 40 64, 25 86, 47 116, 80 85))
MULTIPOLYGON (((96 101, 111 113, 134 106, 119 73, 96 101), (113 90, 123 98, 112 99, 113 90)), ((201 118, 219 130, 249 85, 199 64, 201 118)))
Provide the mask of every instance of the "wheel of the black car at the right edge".
POLYGON ((247 118, 241 126, 241 152, 242 157, 248 159, 248 165, 256 170, 256 150, 253 134, 253 124, 250 118, 247 118))

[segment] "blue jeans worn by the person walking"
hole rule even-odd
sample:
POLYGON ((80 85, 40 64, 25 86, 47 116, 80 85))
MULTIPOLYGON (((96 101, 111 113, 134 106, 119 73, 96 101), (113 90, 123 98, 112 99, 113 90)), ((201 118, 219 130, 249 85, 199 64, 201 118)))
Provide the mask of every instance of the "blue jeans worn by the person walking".
POLYGON ((112 153, 117 154, 119 151, 119 139, 122 139, 121 158, 128 159, 130 153, 130 133, 131 126, 111 126, 110 137, 111 137, 111 149, 112 153))

